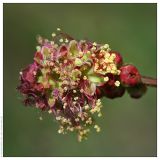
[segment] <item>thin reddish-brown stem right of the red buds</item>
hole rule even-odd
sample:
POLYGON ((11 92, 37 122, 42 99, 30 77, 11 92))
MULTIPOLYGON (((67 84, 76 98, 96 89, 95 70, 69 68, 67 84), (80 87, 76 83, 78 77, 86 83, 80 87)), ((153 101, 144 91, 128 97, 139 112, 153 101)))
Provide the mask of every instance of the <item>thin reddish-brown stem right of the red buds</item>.
POLYGON ((143 84, 146 84, 147 86, 157 87, 157 79, 156 78, 142 76, 141 81, 143 84))

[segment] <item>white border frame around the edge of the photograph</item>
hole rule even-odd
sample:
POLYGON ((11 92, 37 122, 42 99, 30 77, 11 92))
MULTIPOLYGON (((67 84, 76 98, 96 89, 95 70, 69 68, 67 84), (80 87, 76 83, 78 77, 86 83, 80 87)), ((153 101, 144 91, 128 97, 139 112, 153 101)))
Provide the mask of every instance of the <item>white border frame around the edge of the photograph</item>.
MULTIPOLYGON (((1 39, 0 39, 0 49, 1 49, 1 53, 0 53, 0 154, 1 156, 3 156, 3 3, 157 3, 157 84, 159 84, 159 72, 160 70, 158 70, 158 68, 160 68, 160 56, 159 56, 159 52, 160 52, 160 47, 158 45, 158 40, 159 40, 159 37, 160 37, 160 32, 159 32, 159 29, 158 27, 160 27, 160 18, 159 18, 159 15, 160 15, 160 4, 158 3, 158 0, 134 0, 134 1, 129 1, 129 0, 93 0, 92 2, 89 1, 89 0, 70 0, 70 1, 67 1, 67 0, 25 0, 25 1, 22 1, 22 0, 2 0, 2 2, 0 2, 0 35, 2 35, 1 39), (159 62, 159 63, 158 63, 159 62)), ((159 147, 159 144, 160 144, 160 138, 158 137, 158 135, 160 135, 160 127, 159 127, 159 124, 160 124, 160 109, 159 109, 159 105, 160 105, 160 102, 159 102, 159 99, 158 99, 158 95, 159 95, 159 90, 160 90, 160 86, 158 85, 157 87, 157 157, 101 157, 102 159, 103 158, 107 158, 107 159, 117 159, 119 158, 120 160, 122 159, 160 159, 160 147, 159 147)), ((3 157, 4 159, 17 159, 16 158, 11 158, 11 157, 3 157)), ((2 158, 2 159, 3 159, 2 158)), ((24 158, 24 157, 23 157, 24 158)), ((23 159, 22 157, 18 158, 18 159, 23 159)), ((33 158, 33 157, 32 157, 33 158)), ((34 157, 35 159, 53 159, 53 157, 34 157)), ((75 159, 75 157, 66 157, 66 159, 70 160, 70 159, 75 159)), ((84 157, 83 157, 84 158, 84 157)), ((85 157, 84 159, 88 159, 89 157, 85 157)), ((0 158, 1 159, 1 158, 0 158)), ((31 159, 31 157, 25 157, 24 159, 31 159)), ((61 158, 61 157, 54 157, 54 159, 64 159, 64 158, 61 158)), ((80 157, 76 157, 76 159, 81 159, 80 157)), ((99 159, 99 157, 92 157, 92 159, 99 159)))

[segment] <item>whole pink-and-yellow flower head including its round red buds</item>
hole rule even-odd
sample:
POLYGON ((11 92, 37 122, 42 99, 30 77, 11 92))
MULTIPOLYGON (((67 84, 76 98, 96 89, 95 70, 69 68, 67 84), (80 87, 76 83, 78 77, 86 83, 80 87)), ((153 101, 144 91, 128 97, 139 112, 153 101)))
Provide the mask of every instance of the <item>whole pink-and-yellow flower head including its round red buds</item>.
POLYGON ((76 131, 81 141, 91 127, 100 132, 101 97, 121 97, 127 89, 139 98, 146 87, 136 67, 123 65, 108 44, 76 41, 57 30, 51 41, 38 37, 34 62, 20 72, 17 88, 25 105, 54 114, 58 133, 76 131))

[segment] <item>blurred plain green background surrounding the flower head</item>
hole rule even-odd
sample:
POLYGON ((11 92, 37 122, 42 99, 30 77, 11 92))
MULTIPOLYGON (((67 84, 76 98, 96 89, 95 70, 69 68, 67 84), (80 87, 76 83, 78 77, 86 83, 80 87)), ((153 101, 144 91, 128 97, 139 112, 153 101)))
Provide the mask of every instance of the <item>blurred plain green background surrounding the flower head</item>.
POLYGON ((157 73, 156 4, 4 4, 4 156, 156 156, 157 90, 141 99, 103 99, 102 132, 87 141, 59 135, 48 114, 24 107, 19 71, 33 62, 36 35, 60 27, 77 39, 108 43, 143 75, 157 73), (39 120, 43 117, 43 121, 39 120))

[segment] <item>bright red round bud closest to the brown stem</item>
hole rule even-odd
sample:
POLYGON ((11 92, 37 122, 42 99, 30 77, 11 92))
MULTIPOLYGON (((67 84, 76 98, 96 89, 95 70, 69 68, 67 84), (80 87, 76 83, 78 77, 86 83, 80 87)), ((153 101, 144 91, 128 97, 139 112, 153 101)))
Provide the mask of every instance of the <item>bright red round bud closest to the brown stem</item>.
POLYGON ((125 86, 135 86, 141 82, 141 75, 137 68, 131 64, 120 68, 120 80, 125 86))

